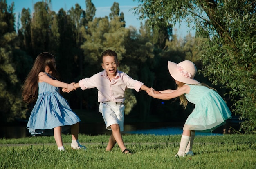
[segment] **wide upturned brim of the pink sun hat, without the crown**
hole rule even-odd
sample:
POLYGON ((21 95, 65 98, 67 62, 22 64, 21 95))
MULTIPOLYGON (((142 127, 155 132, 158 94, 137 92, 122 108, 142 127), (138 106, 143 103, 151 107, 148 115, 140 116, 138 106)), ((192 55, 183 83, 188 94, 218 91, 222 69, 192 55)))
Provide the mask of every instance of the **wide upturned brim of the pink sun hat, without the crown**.
POLYGON ((190 78, 186 78, 186 77, 182 76, 180 71, 177 69, 177 63, 168 61, 168 69, 169 69, 169 73, 171 74, 171 77, 173 77, 173 79, 175 79, 179 82, 186 83, 186 84, 199 84, 200 83, 195 79, 190 79, 190 78))

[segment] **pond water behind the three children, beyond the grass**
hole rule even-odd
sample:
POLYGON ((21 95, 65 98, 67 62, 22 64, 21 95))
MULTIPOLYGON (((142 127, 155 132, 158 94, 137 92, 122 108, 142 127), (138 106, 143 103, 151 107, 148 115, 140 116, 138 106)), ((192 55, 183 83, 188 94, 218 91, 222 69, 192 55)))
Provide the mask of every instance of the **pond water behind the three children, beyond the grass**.
MULTIPOLYGON (((223 126, 225 127, 225 126, 223 126)), ((223 134, 223 127, 216 129, 213 133, 196 132, 197 135, 217 135, 223 134)), ((16 126, 1 126, 0 138, 25 138, 31 136, 26 128, 26 125, 16 126)), ((174 123, 135 123, 124 124, 123 134, 154 134, 154 135, 174 135, 182 134, 182 125, 174 123)), ((67 132, 70 133, 70 132, 67 132)), ((79 133, 86 135, 101 135, 111 134, 111 131, 106 129, 104 123, 99 124, 80 124, 79 133)))

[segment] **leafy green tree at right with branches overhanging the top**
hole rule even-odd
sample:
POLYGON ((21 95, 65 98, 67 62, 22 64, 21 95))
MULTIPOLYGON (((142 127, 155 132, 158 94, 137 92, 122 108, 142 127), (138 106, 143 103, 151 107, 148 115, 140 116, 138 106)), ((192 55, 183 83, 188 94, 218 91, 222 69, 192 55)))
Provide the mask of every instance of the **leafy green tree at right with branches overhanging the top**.
POLYGON ((253 0, 138 0, 135 8, 150 25, 186 19, 194 22, 198 37, 208 37, 202 48, 202 72, 227 89, 233 112, 243 119, 240 131, 256 133, 256 2, 253 0), (161 9, 161 10, 160 10, 161 9))

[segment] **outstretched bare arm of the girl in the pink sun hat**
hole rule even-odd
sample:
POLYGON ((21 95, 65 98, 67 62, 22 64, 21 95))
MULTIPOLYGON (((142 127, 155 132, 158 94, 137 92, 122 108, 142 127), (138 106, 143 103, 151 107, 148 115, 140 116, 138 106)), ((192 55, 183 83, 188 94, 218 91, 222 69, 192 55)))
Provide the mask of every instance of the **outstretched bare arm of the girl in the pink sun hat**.
POLYGON ((153 89, 151 89, 148 93, 149 96, 152 96, 153 98, 157 98, 157 99, 162 99, 162 100, 169 100, 172 98, 177 98, 185 93, 189 93, 190 91, 190 87, 188 85, 184 85, 182 87, 180 87, 177 90, 174 90, 171 93, 160 93, 160 94, 156 94, 154 93, 153 89))

